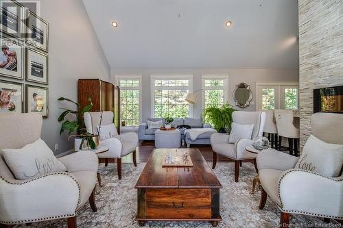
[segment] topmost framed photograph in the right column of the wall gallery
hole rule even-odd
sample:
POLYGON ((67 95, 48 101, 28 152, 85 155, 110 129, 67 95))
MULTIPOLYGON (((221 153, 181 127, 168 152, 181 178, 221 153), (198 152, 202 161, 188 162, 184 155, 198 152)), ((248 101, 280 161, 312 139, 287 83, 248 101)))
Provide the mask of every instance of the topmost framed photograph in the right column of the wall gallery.
POLYGON ((27 10, 27 45, 48 51, 49 23, 27 10))

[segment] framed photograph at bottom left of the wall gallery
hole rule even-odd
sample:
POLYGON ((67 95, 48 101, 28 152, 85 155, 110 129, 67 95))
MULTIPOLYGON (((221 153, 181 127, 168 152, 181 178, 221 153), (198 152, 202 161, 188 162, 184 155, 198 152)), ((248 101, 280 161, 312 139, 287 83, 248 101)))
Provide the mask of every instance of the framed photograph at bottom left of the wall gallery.
POLYGON ((0 115, 22 113, 23 94, 23 84, 0 81, 0 115))

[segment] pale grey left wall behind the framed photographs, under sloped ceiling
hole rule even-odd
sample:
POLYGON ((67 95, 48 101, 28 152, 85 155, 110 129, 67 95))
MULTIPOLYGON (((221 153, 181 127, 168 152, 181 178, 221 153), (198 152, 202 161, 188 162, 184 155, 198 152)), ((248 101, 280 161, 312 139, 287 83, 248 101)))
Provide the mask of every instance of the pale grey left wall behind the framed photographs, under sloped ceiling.
MULTIPOLYGON (((56 99, 68 97, 77 101, 78 79, 109 81, 110 67, 82 1, 44 0, 40 7, 41 17, 49 23, 49 118, 43 121, 42 138, 53 151, 58 144, 58 154, 71 149, 73 140, 68 142, 65 135, 59 135, 61 104, 56 99)), ((0 79, 11 81, 1 76, 0 79)))

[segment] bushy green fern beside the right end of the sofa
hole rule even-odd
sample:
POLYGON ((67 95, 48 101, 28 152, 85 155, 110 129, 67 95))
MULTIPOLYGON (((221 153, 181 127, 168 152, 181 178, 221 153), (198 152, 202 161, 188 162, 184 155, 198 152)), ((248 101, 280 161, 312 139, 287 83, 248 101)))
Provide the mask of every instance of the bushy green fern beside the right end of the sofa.
POLYGON ((202 112, 202 118, 206 123, 213 125, 218 132, 229 133, 233 122, 232 114, 235 111, 229 104, 224 104, 222 107, 206 107, 202 112))

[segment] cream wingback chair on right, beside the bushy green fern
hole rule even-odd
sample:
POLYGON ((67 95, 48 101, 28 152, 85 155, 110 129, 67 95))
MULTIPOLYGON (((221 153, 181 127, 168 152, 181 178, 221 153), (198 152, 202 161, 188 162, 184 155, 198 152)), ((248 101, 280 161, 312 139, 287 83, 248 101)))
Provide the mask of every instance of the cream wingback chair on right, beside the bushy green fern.
POLYGON ((256 168, 256 153, 246 151, 246 147, 252 145, 253 139, 256 136, 262 136, 263 127, 265 124, 265 112, 233 112, 233 123, 241 125, 254 125, 252 138, 241 138, 235 144, 229 143, 230 136, 228 134, 215 133, 211 136, 211 146, 213 150, 213 164, 215 168, 217 164, 217 153, 229 157, 235 161, 235 182, 238 182, 239 164, 243 160, 252 160, 256 168))

